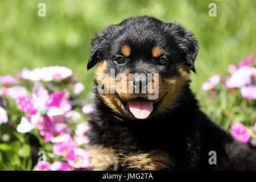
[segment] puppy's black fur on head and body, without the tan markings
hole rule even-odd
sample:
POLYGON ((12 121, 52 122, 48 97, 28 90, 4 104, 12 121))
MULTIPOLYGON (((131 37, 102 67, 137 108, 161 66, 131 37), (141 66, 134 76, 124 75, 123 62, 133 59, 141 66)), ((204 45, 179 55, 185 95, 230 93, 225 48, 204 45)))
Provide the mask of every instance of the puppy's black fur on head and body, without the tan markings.
MULTIPOLYGON (((122 23, 112 25, 96 35, 92 41, 88 69, 98 60, 107 60, 108 69, 115 68, 117 72, 123 72, 127 67, 131 68, 131 62, 135 62, 138 57, 142 61, 151 59, 146 52, 155 44, 163 49, 168 59, 167 68, 157 65, 152 59, 151 63, 143 62, 147 66, 133 67, 134 71, 155 67, 161 77, 170 78, 179 74, 174 65, 184 61, 195 72, 194 62, 198 46, 192 34, 176 23, 163 23, 148 16, 123 20, 122 23), (123 44, 129 44, 137 57, 132 55, 129 63, 121 67, 115 65, 113 60, 121 54, 118 50, 123 44)), ((172 170, 256 170, 255 150, 237 142, 229 133, 210 121, 200 110, 189 89, 189 82, 175 100, 175 109, 158 117, 153 115, 144 121, 118 115, 101 100, 97 89, 95 93, 96 111, 89 119, 91 146, 97 144, 131 154, 162 150, 174 163, 170 167, 172 170), (216 151, 217 165, 209 164, 209 151, 216 151)), ((139 170, 129 165, 120 165, 118 169, 139 170)))

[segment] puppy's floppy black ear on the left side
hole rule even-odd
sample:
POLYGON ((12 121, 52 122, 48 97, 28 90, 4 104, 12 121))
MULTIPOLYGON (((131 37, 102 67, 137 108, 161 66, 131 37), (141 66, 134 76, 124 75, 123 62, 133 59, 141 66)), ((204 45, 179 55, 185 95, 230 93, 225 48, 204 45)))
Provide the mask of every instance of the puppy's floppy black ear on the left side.
POLYGON ((100 49, 102 48, 102 44, 104 44, 104 41, 106 39, 107 30, 102 30, 99 34, 97 34, 93 39, 90 46, 90 51, 92 52, 87 64, 87 70, 94 67, 98 60, 101 59, 100 56, 100 49))

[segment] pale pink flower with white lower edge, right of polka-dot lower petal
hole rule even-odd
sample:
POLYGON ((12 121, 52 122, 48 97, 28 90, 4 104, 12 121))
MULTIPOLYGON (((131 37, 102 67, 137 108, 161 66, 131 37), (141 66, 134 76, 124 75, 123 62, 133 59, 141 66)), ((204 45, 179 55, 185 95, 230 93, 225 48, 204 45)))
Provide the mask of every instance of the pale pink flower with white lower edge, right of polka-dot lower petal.
POLYGON ((71 140, 68 125, 65 123, 56 123, 53 126, 52 137, 49 140, 52 143, 68 142, 71 140))

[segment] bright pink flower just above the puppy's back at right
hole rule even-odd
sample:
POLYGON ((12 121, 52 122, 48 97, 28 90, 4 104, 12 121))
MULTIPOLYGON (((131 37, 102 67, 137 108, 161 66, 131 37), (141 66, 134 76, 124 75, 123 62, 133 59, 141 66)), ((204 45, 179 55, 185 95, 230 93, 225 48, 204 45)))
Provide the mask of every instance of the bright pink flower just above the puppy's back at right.
POLYGON ((232 125, 231 134, 242 143, 248 143, 250 140, 250 134, 242 123, 232 125))

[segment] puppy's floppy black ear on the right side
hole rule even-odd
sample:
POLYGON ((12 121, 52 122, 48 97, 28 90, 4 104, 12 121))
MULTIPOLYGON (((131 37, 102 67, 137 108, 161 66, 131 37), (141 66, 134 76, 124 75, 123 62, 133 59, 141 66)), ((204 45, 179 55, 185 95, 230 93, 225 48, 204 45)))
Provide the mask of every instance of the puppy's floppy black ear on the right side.
POLYGON ((179 47, 183 50, 183 57, 191 70, 196 73, 195 69, 195 59, 197 51, 199 48, 198 42, 193 38, 193 34, 185 30, 179 24, 171 23, 171 29, 176 32, 177 42, 179 42, 179 47))

